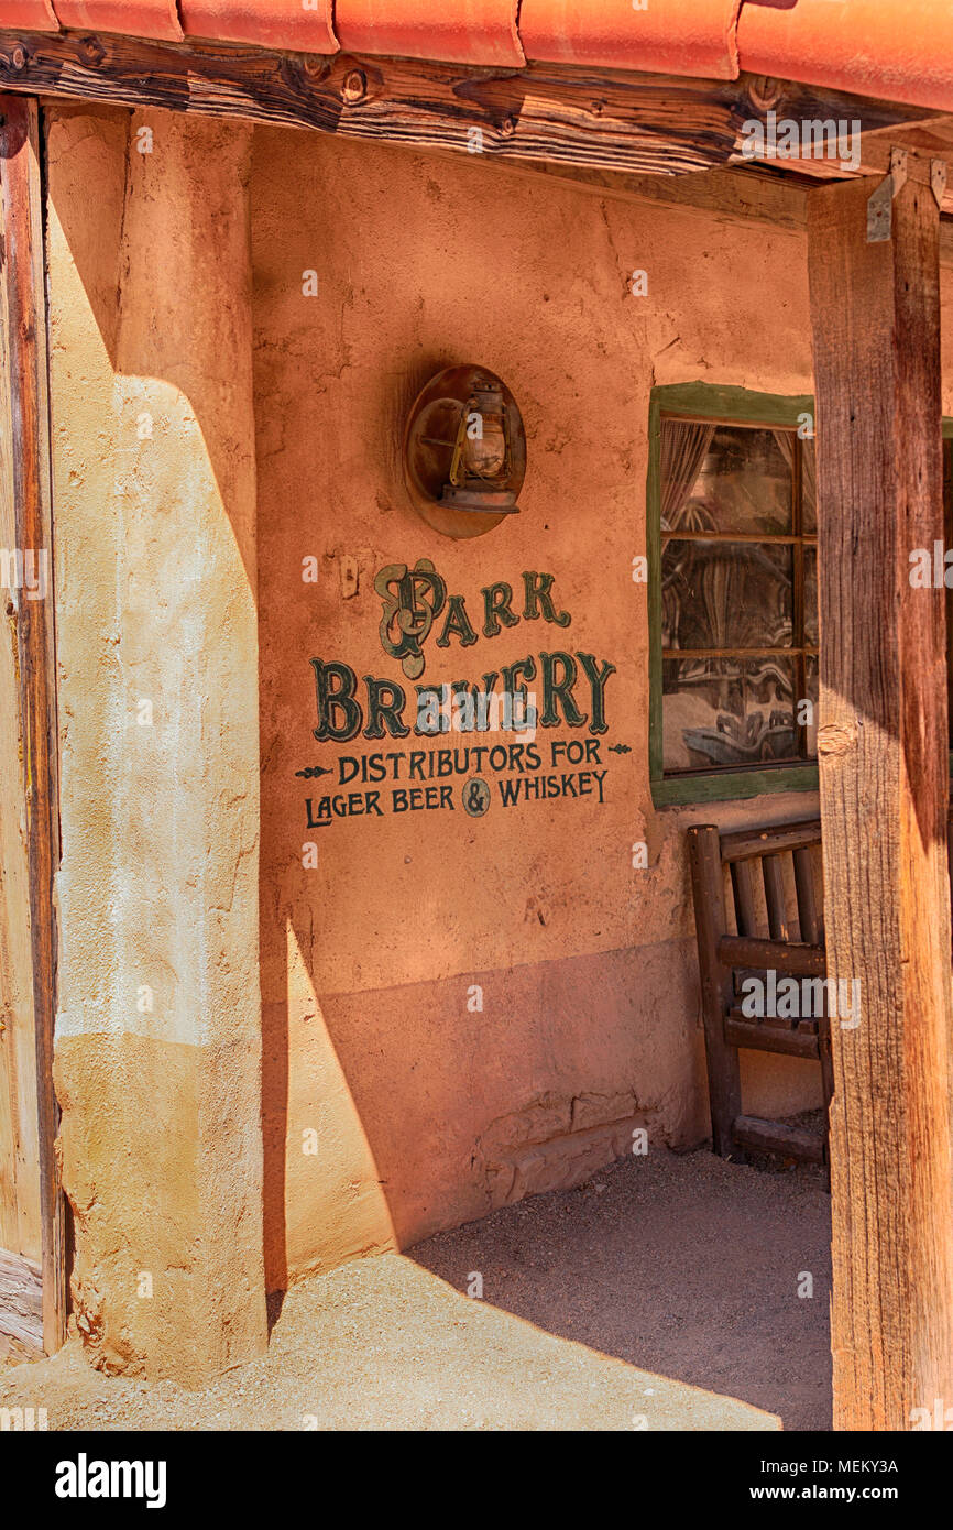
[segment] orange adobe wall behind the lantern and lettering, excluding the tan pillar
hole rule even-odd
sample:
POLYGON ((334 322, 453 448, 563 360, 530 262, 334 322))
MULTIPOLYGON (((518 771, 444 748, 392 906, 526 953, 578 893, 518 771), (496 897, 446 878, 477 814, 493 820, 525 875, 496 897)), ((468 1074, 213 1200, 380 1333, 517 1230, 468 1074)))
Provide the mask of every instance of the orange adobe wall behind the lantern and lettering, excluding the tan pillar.
MULTIPOLYGON (((811 392, 811 334, 803 242, 765 226, 604 202, 479 156, 272 130, 255 133, 251 194, 277 1285, 572 1184, 629 1151, 635 1126, 675 1148, 705 1137, 685 826, 797 817, 817 802, 653 809, 646 586, 632 580, 646 552, 649 395, 693 379, 811 392), (644 297, 632 295, 635 269, 644 297), (317 295, 303 292, 309 271, 317 295), (519 516, 453 542, 408 506, 399 445, 418 390, 460 361, 512 389, 529 470, 519 516), (613 666, 607 731, 589 727, 577 659, 587 721, 568 727, 560 713, 540 728, 535 771, 509 759, 496 770, 488 756, 482 817, 462 802, 473 756, 445 779, 451 802, 434 793, 430 806, 422 796, 419 811, 395 811, 393 793, 411 785, 411 751, 425 751, 427 773, 434 750, 483 739, 384 730, 329 744, 312 731, 312 658, 350 666, 364 707, 364 676, 401 682, 413 725, 415 684, 382 649, 375 577, 419 558, 463 597, 477 641, 460 643, 460 624, 439 647, 441 618, 418 684, 476 685, 532 655, 538 692, 540 655, 566 650, 590 655, 597 673, 613 666), (554 577, 552 615, 569 614, 566 626, 545 610, 525 620, 528 571, 554 577), (494 581, 512 586, 520 620, 486 636, 480 591, 494 581), (551 774, 552 745, 569 741, 598 760, 587 794, 506 806, 500 786, 551 774), (375 782, 343 785, 356 767, 341 774, 341 759, 373 751, 401 759, 384 763, 369 806, 375 782), (303 777, 311 768, 327 774, 303 777), (324 797, 355 788, 361 815, 337 817, 347 803, 332 802, 332 822, 307 828, 309 800, 320 819, 324 797), (649 846, 647 869, 632 866, 635 842, 649 846)), ((555 770, 581 791, 578 762, 555 770)), ((756 1112, 818 1102, 817 1069, 800 1062, 745 1059, 745 1088, 756 1112)))

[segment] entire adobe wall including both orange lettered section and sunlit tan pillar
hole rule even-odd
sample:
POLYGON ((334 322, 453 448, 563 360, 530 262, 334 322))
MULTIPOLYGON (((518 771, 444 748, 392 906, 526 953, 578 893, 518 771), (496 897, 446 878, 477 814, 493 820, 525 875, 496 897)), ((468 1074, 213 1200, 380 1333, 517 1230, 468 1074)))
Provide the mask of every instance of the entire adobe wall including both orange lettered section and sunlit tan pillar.
MULTIPOLYGON (((265 1284, 569 1186, 638 1126, 704 1140, 684 831, 815 799, 652 806, 649 393, 809 392, 805 249, 477 156, 63 104, 47 124, 75 1314, 96 1363, 190 1377, 262 1346, 265 1284), (471 542, 415 517, 399 465, 456 361, 506 379, 529 444, 520 516, 471 542), (364 676, 411 693, 373 583, 421 558, 476 635, 457 604, 427 682, 575 659, 580 716, 561 704, 531 771, 560 796, 506 806, 528 773, 488 756, 471 815, 474 768, 408 780, 445 741, 315 739, 312 659, 350 666, 363 705, 364 676), (526 614, 526 574, 552 609, 526 614), (517 620, 486 635, 500 581, 517 620), (379 815, 324 823, 343 757, 372 753, 401 777, 344 791, 379 815)), ((751 1059, 745 1085, 766 1114, 818 1097, 797 1062, 751 1059)))

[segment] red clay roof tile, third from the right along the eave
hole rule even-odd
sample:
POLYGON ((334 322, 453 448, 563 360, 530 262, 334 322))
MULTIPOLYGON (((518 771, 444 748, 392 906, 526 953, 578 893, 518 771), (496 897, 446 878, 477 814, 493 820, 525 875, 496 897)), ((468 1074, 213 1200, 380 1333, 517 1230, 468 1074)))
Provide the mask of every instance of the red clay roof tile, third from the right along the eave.
POLYGON ((349 54, 520 67, 517 0, 335 0, 349 54))

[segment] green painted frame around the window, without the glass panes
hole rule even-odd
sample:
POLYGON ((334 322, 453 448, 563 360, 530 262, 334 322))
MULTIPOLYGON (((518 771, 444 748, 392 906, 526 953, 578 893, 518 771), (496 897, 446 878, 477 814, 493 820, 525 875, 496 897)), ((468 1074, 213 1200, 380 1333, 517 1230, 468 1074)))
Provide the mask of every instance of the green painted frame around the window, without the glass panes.
MULTIPOLYGON (((672 382, 652 389, 649 401, 649 479, 646 485, 646 551, 649 562, 649 776, 656 808, 696 802, 736 802, 779 791, 817 791, 817 765, 759 765, 756 770, 668 776, 662 770, 662 415, 708 416, 748 425, 788 425, 814 416, 812 393, 753 393, 711 382, 672 382)), ((944 416, 944 439, 953 418, 944 416)), ((953 776, 953 750, 950 751, 953 776)))

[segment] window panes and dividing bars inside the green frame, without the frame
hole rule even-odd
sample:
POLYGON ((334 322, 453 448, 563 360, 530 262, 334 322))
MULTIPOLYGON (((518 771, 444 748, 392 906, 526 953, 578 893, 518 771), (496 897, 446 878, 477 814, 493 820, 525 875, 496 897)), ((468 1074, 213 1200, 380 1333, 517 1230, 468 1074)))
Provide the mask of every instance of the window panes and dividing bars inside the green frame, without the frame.
POLYGON ((661 534, 665 774, 814 759, 814 442, 662 415, 661 534))

